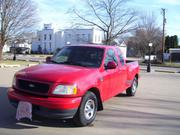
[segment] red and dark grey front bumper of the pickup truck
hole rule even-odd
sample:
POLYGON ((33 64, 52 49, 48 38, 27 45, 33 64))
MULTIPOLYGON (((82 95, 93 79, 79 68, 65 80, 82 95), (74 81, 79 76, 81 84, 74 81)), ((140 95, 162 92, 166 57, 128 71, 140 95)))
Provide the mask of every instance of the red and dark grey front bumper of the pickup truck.
POLYGON ((24 94, 10 88, 8 91, 10 103, 17 107, 19 101, 26 101, 32 104, 33 114, 49 118, 72 118, 80 105, 81 97, 55 98, 40 97, 24 94))

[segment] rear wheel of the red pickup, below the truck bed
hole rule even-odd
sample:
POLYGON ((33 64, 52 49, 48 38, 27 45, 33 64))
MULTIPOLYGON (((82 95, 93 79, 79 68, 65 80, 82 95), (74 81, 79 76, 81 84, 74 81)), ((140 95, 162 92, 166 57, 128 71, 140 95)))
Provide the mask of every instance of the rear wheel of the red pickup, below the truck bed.
POLYGON ((126 90, 126 94, 128 96, 134 96, 136 91, 137 91, 137 87, 138 87, 138 79, 137 77, 134 78, 133 82, 132 82, 132 85, 131 87, 129 87, 127 90, 126 90))

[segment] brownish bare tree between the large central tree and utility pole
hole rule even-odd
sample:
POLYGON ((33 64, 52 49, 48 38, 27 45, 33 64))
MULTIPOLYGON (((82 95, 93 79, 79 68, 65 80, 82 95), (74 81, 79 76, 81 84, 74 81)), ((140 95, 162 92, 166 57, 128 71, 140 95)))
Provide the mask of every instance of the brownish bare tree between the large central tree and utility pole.
POLYGON ((148 44, 153 43, 152 52, 157 54, 161 48, 162 32, 156 22, 153 13, 142 15, 139 19, 138 28, 132 33, 128 40, 128 48, 132 49, 139 56, 148 52, 148 44))

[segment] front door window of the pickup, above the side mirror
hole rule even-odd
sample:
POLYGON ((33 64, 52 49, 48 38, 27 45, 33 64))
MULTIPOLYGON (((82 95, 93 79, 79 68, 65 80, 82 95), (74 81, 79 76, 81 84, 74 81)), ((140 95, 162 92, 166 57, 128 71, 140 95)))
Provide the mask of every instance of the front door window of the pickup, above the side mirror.
POLYGON ((115 51, 113 49, 108 49, 108 51, 106 52, 104 66, 106 67, 108 62, 110 62, 110 61, 114 61, 118 65, 118 59, 117 59, 117 57, 115 55, 115 51))

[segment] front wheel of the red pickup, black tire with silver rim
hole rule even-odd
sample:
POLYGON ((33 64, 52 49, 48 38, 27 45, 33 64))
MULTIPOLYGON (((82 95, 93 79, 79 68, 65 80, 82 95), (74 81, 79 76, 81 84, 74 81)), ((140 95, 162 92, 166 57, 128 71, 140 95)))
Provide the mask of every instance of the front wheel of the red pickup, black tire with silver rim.
POLYGON ((82 99, 81 105, 73 118, 77 126, 91 124, 97 112, 97 97, 93 92, 88 91, 82 99))

